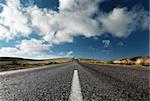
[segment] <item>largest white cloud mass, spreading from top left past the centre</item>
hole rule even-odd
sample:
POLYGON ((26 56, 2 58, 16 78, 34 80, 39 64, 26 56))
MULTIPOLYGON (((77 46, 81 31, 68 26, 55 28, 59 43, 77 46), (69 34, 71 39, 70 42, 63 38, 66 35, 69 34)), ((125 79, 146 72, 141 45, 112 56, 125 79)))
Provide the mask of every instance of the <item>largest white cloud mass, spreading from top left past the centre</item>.
POLYGON ((98 10, 97 3, 100 1, 59 0, 58 12, 36 5, 25 8, 19 0, 6 1, 0 14, 1 25, 6 26, 5 30, 9 33, 4 38, 10 40, 17 35, 26 37, 34 31, 45 41, 59 44, 72 42, 79 35, 95 36, 101 33, 101 29, 91 16, 98 10))

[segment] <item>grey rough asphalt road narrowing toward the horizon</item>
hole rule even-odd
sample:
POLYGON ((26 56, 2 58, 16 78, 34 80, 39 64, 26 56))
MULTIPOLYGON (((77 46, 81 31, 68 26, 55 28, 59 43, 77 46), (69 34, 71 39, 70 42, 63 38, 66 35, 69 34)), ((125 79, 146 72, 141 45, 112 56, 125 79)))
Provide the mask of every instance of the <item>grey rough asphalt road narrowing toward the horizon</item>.
POLYGON ((69 101, 71 92, 83 101, 149 101, 149 91, 144 68, 72 62, 0 73, 0 101, 69 101))

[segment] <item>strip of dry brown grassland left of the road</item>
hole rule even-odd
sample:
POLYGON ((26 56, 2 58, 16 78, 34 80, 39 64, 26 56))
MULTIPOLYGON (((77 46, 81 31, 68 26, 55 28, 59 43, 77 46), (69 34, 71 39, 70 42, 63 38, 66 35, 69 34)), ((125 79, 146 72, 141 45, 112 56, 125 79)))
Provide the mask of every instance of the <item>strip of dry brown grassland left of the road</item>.
POLYGON ((0 58, 0 71, 10 71, 25 68, 35 68, 46 65, 61 64, 65 62, 71 62, 72 59, 59 58, 59 59, 47 59, 47 60, 31 60, 22 58, 0 58))

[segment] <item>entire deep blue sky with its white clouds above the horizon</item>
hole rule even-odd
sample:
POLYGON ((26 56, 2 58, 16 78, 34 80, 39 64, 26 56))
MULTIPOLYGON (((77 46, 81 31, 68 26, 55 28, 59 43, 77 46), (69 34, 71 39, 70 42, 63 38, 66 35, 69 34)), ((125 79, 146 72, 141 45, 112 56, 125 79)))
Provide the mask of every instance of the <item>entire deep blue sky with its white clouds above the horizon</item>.
POLYGON ((148 0, 0 0, 0 56, 149 54, 148 0))

